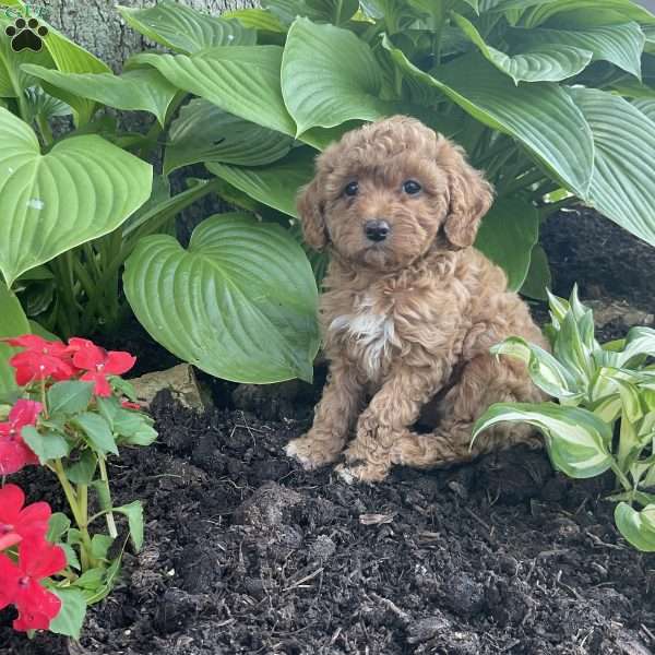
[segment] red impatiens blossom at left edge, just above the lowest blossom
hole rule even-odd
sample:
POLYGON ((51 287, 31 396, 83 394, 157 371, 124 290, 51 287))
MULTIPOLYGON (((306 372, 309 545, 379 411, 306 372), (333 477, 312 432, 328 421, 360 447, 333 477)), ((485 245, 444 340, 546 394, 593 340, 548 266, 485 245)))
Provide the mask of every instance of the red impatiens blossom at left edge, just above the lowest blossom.
POLYGON ((27 507, 25 493, 15 485, 0 487, 0 550, 15 546, 23 539, 45 539, 50 520, 50 505, 35 502, 27 507))

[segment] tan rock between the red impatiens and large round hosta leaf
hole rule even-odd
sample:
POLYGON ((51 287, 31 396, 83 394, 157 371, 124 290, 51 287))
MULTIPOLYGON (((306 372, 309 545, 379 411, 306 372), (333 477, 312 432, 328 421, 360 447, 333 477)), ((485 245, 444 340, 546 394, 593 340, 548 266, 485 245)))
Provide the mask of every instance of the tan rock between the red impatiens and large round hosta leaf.
POLYGON ((211 393, 196 380, 193 367, 180 364, 165 371, 146 373, 130 380, 139 402, 150 406, 160 391, 168 390, 174 400, 184 407, 205 412, 213 406, 211 393))

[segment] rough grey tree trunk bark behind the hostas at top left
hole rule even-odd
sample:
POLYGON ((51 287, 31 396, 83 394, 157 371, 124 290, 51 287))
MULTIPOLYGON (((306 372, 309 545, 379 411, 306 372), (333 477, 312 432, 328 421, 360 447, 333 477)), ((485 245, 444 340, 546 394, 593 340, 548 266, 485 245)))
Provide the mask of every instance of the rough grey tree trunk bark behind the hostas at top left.
MULTIPOLYGON (((122 0, 126 7, 152 7, 153 0, 122 0)), ((183 4, 218 15, 223 11, 252 7, 253 0, 183 0, 183 4)), ((152 47, 152 44, 128 27, 116 9, 116 0, 32 0, 43 7, 49 23, 69 38, 85 47, 119 71, 132 53, 152 47)))

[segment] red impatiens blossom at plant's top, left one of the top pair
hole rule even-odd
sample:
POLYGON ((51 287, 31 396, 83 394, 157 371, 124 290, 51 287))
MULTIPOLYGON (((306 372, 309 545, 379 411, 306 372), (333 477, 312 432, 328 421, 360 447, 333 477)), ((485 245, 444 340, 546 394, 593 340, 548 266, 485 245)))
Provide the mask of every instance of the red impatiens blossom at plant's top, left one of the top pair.
POLYGON ((61 342, 49 342, 35 334, 5 341, 10 346, 25 348, 9 360, 16 370, 19 386, 50 377, 55 380, 68 380, 75 372, 70 364, 69 349, 61 342))

